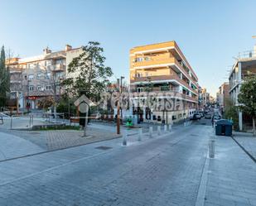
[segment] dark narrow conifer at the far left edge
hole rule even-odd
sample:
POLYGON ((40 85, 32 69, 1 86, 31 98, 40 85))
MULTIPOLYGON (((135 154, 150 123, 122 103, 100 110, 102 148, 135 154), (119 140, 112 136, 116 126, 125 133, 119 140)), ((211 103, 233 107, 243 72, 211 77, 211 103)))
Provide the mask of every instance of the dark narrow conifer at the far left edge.
POLYGON ((10 91, 10 71, 5 65, 5 51, 2 46, 0 55, 0 107, 4 107, 7 102, 7 93, 10 91))

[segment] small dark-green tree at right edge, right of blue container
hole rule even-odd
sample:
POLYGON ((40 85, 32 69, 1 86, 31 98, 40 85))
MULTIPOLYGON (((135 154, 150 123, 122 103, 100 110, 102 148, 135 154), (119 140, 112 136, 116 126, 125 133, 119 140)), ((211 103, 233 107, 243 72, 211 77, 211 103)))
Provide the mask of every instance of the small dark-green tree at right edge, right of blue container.
POLYGON ((245 79, 239 91, 239 108, 248 113, 253 119, 253 132, 255 132, 255 117, 256 117, 256 76, 251 76, 245 79))

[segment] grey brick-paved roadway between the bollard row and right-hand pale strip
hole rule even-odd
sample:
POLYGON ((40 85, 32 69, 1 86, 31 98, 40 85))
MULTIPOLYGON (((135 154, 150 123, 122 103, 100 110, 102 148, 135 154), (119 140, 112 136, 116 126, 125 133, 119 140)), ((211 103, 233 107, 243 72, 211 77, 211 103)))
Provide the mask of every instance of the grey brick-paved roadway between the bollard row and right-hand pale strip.
POLYGON ((0 162, 0 205, 195 205, 209 122, 0 162))

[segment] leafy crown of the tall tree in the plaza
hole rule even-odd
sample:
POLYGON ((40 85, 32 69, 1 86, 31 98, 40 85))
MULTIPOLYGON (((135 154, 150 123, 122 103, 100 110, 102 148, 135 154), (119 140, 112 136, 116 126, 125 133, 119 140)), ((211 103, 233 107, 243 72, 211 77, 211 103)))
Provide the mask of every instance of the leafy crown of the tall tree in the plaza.
POLYGON ((75 78, 67 78, 63 84, 76 96, 85 94, 88 98, 98 100, 100 93, 106 89, 113 72, 104 65, 106 58, 103 52, 99 42, 89 41, 83 47, 83 53, 71 61, 68 72, 75 74, 75 78))

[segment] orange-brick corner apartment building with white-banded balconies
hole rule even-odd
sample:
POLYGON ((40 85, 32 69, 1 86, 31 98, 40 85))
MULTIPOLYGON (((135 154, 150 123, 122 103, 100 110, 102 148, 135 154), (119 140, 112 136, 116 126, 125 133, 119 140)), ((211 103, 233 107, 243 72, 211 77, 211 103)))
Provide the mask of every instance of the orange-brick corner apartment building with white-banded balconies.
POLYGON ((143 120, 171 122, 190 117, 198 106, 198 78, 176 41, 130 50, 130 89, 133 93, 173 92, 183 108, 174 111, 150 111, 133 105, 133 114, 143 120), (179 94, 179 95, 177 95, 179 94))

